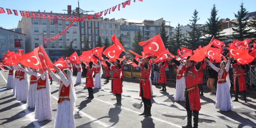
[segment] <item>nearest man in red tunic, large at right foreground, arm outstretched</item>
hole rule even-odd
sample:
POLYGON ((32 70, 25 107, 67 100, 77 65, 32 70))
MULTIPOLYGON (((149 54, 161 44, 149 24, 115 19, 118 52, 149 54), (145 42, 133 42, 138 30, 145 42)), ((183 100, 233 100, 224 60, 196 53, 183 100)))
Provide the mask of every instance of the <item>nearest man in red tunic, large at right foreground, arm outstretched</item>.
POLYGON ((188 122, 186 126, 182 126, 185 128, 192 127, 192 112, 194 115, 194 127, 198 127, 198 114, 199 110, 201 109, 200 103, 200 95, 199 95, 199 88, 197 86, 197 74, 198 70, 200 69, 201 63, 197 63, 194 65, 195 61, 189 60, 190 56, 186 59, 186 65, 179 63, 176 59, 168 54, 169 58, 173 59, 173 62, 179 67, 179 70, 184 71, 184 78, 186 84, 185 91, 185 108, 187 111, 188 122))

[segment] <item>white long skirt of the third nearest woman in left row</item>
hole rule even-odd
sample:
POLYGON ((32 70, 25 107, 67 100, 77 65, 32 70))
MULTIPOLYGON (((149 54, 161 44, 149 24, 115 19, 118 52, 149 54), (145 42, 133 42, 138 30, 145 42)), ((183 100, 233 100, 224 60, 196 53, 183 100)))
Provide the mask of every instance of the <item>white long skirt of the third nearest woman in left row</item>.
POLYGON ((27 99, 27 108, 35 109, 35 92, 37 88, 37 83, 33 83, 29 86, 29 95, 27 99))

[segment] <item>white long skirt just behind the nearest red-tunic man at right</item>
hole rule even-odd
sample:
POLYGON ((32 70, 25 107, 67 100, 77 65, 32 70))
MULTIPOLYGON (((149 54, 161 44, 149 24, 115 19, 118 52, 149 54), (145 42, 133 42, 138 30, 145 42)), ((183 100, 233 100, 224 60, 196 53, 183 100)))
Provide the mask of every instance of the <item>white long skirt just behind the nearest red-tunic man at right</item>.
POLYGON ((176 93, 175 93, 175 97, 174 97, 174 101, 179 102, 179 101, 185 101, 185 96, 183 92, 186 88, 185 85, 185 78, 182 77, 181 79, 178 79, 176 81, 176 93))

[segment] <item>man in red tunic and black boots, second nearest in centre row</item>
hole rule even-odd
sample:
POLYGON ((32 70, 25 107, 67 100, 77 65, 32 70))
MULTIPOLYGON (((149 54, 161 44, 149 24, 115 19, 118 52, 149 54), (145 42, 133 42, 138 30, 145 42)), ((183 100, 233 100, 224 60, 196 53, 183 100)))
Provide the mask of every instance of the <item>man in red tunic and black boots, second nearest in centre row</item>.
POLYGON ((141 79, 140 79, 140 97, 144 104, 144 112, 140 115, 144 115, 144 117, 151 116, 151 100, 152 97, 151 93, 151 85, 150 85, 150 72, 151 72, 151 65, 149 64, 149 60, 151 56, 147 58, 142 58, 141 62, 136 61, 129 53, 127 53, 128 56, 132 59, 134 63, 138 65, 138 67, 141 67, 141 79))

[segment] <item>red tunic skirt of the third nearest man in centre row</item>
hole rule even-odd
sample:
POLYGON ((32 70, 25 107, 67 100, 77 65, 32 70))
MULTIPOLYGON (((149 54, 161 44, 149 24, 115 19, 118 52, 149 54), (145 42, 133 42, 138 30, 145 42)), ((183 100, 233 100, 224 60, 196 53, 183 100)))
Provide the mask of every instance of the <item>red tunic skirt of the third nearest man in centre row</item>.
POLYGON ((111 80, 111 93, 122 94, 122 81, 120 77, 111 80))

